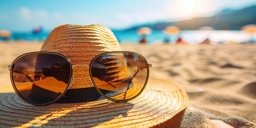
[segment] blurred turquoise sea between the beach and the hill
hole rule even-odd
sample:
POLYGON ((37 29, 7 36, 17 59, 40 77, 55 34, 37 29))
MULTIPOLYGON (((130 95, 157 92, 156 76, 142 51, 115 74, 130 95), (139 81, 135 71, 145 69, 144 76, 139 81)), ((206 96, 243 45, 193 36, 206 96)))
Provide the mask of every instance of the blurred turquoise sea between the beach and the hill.
MULTIPOLYGON (((137 31, 113 31, 119 43, 138 43, 141 36, 137 31)), ((32 32, 13 32, 10 40, 45 40, 49 32, 41 32, 33 34, 32 32)), ((163 31, 152 31, 150 35, 146 36, 148 44, 163 43, 168 39, 171 43, 175 43, 177 37, 180 36, 182 40, 189 44, 198 44, 208 38, 214 43, 246 43, 255 42, 256 34, 250 35, 243 31, 227 31, 227 30, 184 30, 180 34, 164 34, 163 31)))

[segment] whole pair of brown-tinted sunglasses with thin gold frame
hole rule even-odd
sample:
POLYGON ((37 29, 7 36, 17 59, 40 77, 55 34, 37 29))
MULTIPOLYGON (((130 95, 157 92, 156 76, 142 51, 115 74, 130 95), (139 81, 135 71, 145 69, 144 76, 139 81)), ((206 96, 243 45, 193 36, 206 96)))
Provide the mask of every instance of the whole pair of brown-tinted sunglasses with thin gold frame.
POLYGON ((45 106, 58 101, 70 89, 75 79, 73 70, 77 66, 88 68, 90 81, 101 96, 122 102, 141 94, 151 64, 140 54, 126 51, 101 53, 89 66, 72 65, 66 56, 55 52, 30 52, 16 58, 7 70, 13 88, 22 100, 45 106))

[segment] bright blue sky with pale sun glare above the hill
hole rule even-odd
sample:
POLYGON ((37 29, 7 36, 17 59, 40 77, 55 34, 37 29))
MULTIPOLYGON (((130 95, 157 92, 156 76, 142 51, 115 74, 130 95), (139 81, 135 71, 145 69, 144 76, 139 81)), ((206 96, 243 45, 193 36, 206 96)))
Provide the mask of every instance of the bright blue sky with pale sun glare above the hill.
POLYGON ((1 0, 0 29, 50 31, 61 24, 101 24, 112 29, 157 21, 213 16, 242 9, 256 0, 1 0))

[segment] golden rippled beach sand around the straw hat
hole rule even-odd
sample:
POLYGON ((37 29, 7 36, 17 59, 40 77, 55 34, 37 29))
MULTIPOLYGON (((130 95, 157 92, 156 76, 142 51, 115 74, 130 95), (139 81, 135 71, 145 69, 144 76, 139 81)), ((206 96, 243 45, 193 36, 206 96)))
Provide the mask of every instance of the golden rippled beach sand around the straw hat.
MULTIPOLYGON (((0 43, 0 86, 6 65, 42 43, 0 43)), ((152 63, 150 77, 174 81, 189 96, 182 127, 256 127, 256 45, 121 45, 152 63)))

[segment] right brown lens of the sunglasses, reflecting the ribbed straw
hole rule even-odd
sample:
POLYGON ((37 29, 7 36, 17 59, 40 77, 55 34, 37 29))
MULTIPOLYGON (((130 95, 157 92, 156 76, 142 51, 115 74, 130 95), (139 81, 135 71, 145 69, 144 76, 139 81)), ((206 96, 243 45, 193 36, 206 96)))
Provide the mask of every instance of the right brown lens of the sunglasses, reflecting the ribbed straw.
POLYGON ((99 91, 115 101, 137 97, 148 78, 145 59, 126 52, 98 56, 92 62, 90 72, 99 91))

